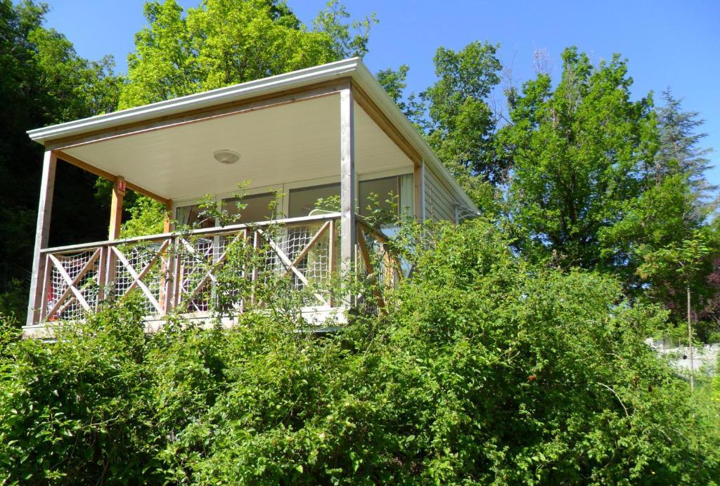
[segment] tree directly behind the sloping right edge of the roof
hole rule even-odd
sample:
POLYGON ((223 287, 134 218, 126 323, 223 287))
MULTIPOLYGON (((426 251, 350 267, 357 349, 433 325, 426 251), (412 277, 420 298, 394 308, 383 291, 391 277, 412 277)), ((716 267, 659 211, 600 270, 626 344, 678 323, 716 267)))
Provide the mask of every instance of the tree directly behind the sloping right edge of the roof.
POLYGON ((510 168, 510 159, 495 150, 498 117, 488 103, 500 83, 498 48, 487 42, 471 42, 459 51, 440 47, 433 58, 438 79, 419 99, 415 93, 405 96, 407 65, 377 73, 385 91, 486 213, 498 212, 497 186, 510 168))

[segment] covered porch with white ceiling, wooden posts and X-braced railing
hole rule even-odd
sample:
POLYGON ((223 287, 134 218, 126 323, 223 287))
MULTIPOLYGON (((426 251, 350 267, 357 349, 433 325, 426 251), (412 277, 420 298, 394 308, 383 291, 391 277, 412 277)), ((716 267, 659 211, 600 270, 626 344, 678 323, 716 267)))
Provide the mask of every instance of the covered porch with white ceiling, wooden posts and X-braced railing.
MULTIPOLYGON (((269 248, 266 262, 243 270, 249 281, 272 271, 310 288, 368 270, 372 245, 384 243, 363 222, 369 194, 383 206, 392 194, 389 209, 421 218, 423 158, 363 69, 346 60, 30 132, 46 152, 26 331, 131 294, 148 320, 207 313, 215 278, 194 265, 220 269, 233 241, 269 248), (47 247, 59 160, 112 181, 107 241, 47 247), (162 234, 120 239, 128 189, 166 207, 162 234), (208 194, 230 224, 201 215, 208 194)), ((321 312, 347 303, 321 292, 312 300, 321 312)))

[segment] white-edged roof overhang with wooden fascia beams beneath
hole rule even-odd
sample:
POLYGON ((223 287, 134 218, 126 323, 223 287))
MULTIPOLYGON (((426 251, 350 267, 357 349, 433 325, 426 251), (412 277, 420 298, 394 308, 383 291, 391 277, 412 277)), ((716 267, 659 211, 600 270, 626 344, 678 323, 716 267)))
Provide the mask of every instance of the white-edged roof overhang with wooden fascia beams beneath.
MULTIPOLYGON (((407 142, 409 147, 404 151, 410 156, 410 159, 416 163, 425 162, 459 196, 459 199, 464 201, 468 208, 477 211, 467 193, 459 187, 417 129, 410 124, 359 58, 350 58, 181 98, 56 124, 30 130, 27 133, 31 139, 42 143, 48 149, 66 150, 66 147, 77 146, 78 141, 91 139, 95 134, 120 133, 127 127, 142 126, 155 120, 174 119, 218 106, 250 103, 256 99, 276 96, 280 93, 292 93, 322 83, 341 81, 343 78, 348 79, 353 88, 359 88, 360 96, 356 96, 359 105, 363 109, 366 109, 368 104, 372 105, 372 108, 377 109, 381 114, 384 122, 387 122, 407 142), (417 155, 417 157, 413 155, 417 155), (420 160, 414 160, 416 158, 420 160)), ((381 129, 385 130, 384 127, 381 129)))

